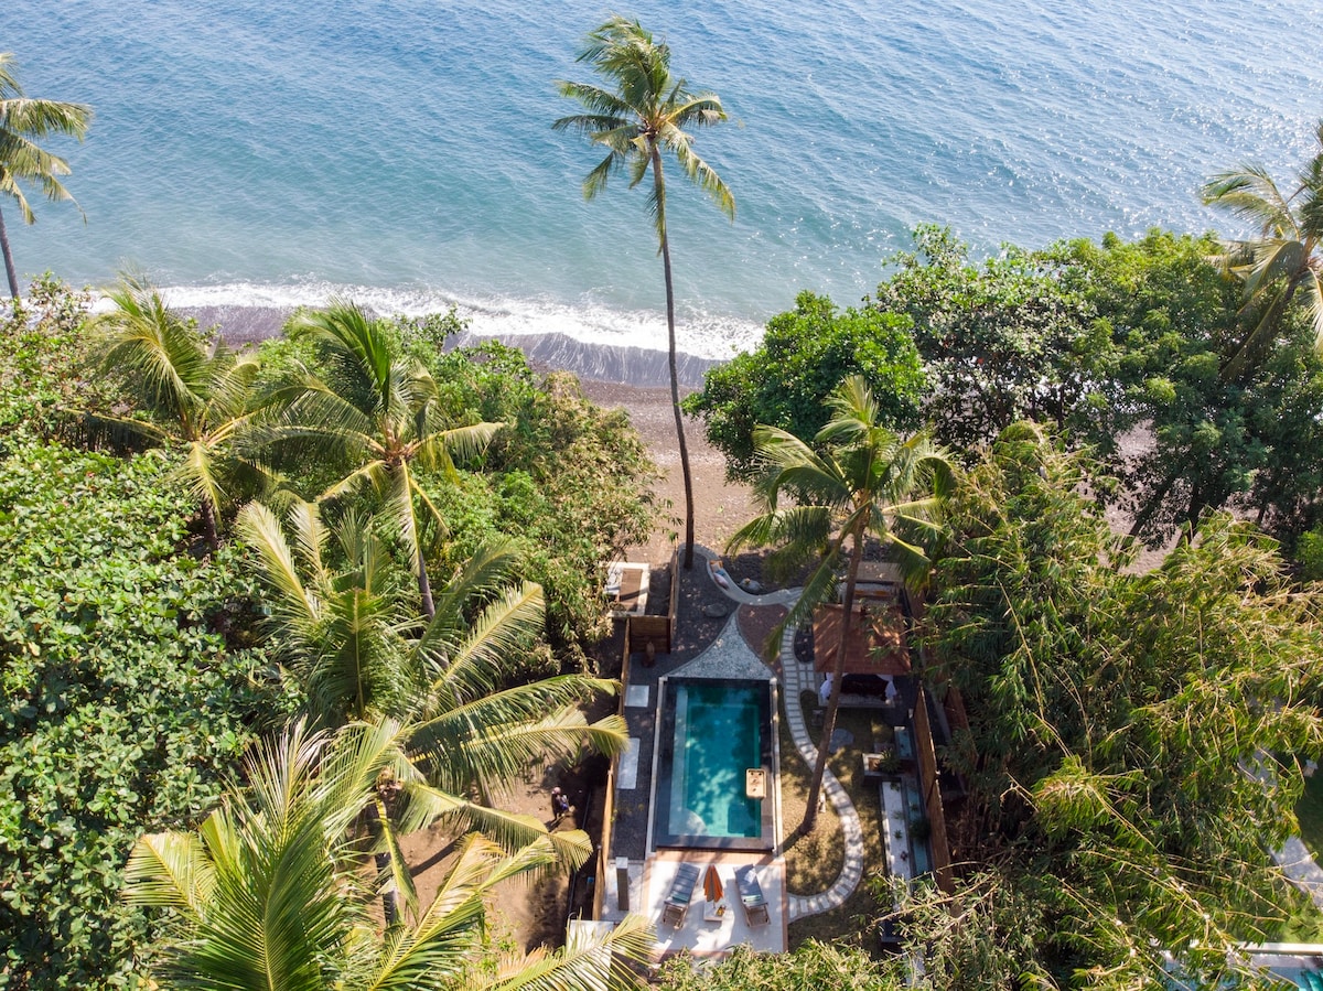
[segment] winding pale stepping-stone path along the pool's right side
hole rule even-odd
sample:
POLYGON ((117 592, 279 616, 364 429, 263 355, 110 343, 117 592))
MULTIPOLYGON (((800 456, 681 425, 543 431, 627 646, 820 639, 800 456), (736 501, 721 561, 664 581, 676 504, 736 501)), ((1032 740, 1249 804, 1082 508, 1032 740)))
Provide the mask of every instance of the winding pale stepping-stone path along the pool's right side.
MULTIPOLYGON (((726 578, 726 585, 722 586, 717 581, 717 576, 710 565, 712 561, 720 560, 718 556, 704 546, 695 546, 695 553, 708 562, 708 576, 713 583, 734 602, 746 606, 790 606, 799 598, 798 589, 782 589, 763 595, 754 595, 736 585, 724 572, 722 576, 726 578)), ((725 632, 737 628, 734 619, 736 617, 732 617, 732 626, 725 632)), ((786 728, 790 730, 790 737, 794 740, 799 755, 808 767, 812 767, 818 759, 818 748, 808 732, 808 726, 804 725, 804 707, 799 704, 799 693, 806 689, 816 692, 818 679, 811 664, 800 664, 795 658, 794 630, 786 630, 781 639, 781 671, 786 728)), ((859 886, 864 876, 864 831, 859 822, 859 812, 855 811, 855 804, 849 800, 849 795, 845 794, 845 789, 830 770, 823 774, 823 794, 840 818, 840 828, 845 840, 845 865, 840 876, 827 890, 818 894, 787 896, 791 922, 807 916, 830 912, 844 904, 855 893, 855 888, 859 886)))

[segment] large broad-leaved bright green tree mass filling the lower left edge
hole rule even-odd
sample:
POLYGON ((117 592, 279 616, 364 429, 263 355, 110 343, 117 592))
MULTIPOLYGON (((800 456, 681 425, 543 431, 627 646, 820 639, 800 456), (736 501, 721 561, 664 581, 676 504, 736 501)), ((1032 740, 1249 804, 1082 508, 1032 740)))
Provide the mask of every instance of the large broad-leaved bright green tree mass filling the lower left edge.
POLYGON ((0 463, 0 986, 127 979, 128 845, 200 814, 250 737, 249 585, 187 552, 169 467, 28 441, 0 463))

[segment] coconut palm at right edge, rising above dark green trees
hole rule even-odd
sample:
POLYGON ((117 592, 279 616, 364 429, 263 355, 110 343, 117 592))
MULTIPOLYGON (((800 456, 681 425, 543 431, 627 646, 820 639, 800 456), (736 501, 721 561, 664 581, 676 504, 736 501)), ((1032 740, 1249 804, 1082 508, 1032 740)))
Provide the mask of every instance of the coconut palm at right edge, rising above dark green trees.
POLYGON ((1240 378, 1246 365, 1277 336, 1293 300, 1304 308, 1323 348, 1323 122, 1318 152, 1283 193, 1262 165, 1241 165, 1204 185, 1204 202, 1258 228, 1258 237, 1230 241, 1221 263, 1245 287, 1245 304, 1262 316, 1222 368, 1240 378))

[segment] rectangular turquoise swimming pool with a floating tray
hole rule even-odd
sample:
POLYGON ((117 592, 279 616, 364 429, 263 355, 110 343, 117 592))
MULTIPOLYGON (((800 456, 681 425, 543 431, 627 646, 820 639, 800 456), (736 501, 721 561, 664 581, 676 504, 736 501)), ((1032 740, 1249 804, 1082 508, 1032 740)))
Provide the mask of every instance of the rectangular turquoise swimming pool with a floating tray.
POLYGON ((672 677, 662 693, 654 839, 658 847, 771 849, 773 684, 672 677), (758 797, 754 781, 765 787, 758 797))

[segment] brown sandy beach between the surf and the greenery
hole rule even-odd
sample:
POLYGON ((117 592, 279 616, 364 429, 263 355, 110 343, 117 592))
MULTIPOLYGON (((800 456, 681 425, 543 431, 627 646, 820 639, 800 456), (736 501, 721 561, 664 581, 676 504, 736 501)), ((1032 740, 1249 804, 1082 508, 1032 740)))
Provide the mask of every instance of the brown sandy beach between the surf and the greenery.
MULTIPOLYGON (((218 327, 229 344, 243 345, 277 336, 292 311, 263 306, 224 306, 180 307, 180 312, 194 318, 201 327, 218 327)), ((462 347, 483 339, 490 340, 492 335, 464 332, 447 341, 447 347, 462 347)), ((564 333, 511 335, 500 340, 521 348, 537 372, 572 372, 578 376, 579 388, 587 400, 606 409, 623 409, 628 413, 630 422, 662 472, 654 491, 662 500, 663 509, 652 539, 644 545, 627 548, 626 558, 665 565, 676 545, 672 532, 679 537, 684 536, 684 482, 665 352, 631 345, 591 344, 564 333), (664 508, 667 501, 671 504, 669 509, 664 508)), ((721 363, 714 359, 677 353, 676 372, 681 397, 700 389, 704 373, 718 364, 721 363)), ((701 422, 685 418, 684 437, 693 480, 695 542, 721 553, 730 536, 753 516, 751 490, 749 486, 726 482, 725 458, 708 443, 701 422)))

